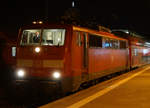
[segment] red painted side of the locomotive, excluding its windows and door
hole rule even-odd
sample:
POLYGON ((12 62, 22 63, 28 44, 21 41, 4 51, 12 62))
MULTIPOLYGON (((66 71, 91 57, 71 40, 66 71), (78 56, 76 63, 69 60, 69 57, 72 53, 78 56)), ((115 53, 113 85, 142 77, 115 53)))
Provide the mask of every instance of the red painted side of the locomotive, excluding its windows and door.
MULTIPOLYGON (((79 31, 82 32, 82 29, 79 31)), ((83 30, 84 31, 84 30, 83 30)), ((121 40, 122 38, 116 37, 110 33, 88 31, 89 33, 97 33, 100 36, 110 37, 121 40)), ((105 49, 105 48, 88 48, 88 67, 83 67, 83 45, 77 46, 77 36, 73 33, 72 47, 71 47, 71 64, 72 64, 72 77, 80 76, 86 72, 89 74, 101 72, 104 70, 116 69, 119 67, 128 68, 128 49, 105 49)), ((81 33, 81 40, 83 41, 83 33, 81 33)), ((123 39, 122 39, 123 40, 123 39)))

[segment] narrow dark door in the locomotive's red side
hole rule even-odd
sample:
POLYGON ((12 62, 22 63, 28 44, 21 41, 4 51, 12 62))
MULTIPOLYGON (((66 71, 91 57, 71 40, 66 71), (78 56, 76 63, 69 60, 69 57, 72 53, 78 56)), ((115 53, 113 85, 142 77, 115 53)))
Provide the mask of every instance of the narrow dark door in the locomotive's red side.
POLYGON ((82 80, 86 81, 89 79, 89 74, 88 74, 88 36, 87 33, 82 33, 82 80))

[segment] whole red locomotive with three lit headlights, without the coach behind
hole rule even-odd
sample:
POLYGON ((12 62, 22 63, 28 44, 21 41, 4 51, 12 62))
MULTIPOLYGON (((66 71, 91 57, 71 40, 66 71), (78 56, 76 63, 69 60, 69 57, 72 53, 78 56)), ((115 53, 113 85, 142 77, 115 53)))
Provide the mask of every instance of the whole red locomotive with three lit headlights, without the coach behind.
MULTIPOLYGON (((130 68, 128 40, 72 25, 37 24, 20 29, 16 83, 38 81, 63 93, 130 68)), ((32 84, 34 87, 36 84, 32 84)))

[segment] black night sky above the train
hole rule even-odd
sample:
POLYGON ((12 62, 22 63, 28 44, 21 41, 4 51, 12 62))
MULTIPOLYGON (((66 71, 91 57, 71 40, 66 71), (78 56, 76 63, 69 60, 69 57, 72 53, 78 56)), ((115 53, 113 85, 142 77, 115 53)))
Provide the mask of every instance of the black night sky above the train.
MULTIPOLYGON (((17 35, 18 29, 33 20, 48 20, 62 16, 71 8, 72 0, 5 0, 0 6, 0 31, 17 35)), ((75 0, 75 7, 85 19, 94 16, 99 24, 112 29, 123 28, 150 37, 150 1, 140 0, 75 0), (104 2, 105 1, 105 2, 104 2)))

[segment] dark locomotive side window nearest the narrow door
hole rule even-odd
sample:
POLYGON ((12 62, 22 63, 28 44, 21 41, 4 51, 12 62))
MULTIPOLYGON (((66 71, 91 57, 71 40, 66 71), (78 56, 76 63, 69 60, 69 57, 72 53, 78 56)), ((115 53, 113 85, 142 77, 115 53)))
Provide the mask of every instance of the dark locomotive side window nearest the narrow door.
POLYGON ((102 47, 102 37, 89 34, 89 47, 102 47))

